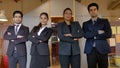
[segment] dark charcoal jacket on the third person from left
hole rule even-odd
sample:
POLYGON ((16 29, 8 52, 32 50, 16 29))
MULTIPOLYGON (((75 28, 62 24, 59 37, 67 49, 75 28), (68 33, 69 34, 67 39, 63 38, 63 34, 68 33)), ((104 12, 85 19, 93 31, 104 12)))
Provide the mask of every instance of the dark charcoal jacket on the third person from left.
POLYGON ((74 41, 74 38, 83 37, 83 31, 81 30, 78 22, 71 22, 71 32, 65 22, 58 25, 58 37, 60 39, 58 52, 59 55, 78 55, 80 54, 80 48, 78 41, 74 41), (72 37, 66 37, 64 34, 72 34, 72 37), (71 54, 72 52, 72 54, 71 54))

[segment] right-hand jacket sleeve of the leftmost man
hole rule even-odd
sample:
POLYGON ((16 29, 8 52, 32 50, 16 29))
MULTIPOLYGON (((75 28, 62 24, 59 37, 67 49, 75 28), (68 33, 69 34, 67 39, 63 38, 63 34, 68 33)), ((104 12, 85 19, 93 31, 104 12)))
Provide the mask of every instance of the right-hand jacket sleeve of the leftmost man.
POLYGON ((15 44, 19 44, 19 43, 23 43, 26 42, 28 40, 28 35, 29 35, 29 28, 27 27, 26 29, 24 29, 24 35, 23 38, 17 38, 14 43, 15 44))

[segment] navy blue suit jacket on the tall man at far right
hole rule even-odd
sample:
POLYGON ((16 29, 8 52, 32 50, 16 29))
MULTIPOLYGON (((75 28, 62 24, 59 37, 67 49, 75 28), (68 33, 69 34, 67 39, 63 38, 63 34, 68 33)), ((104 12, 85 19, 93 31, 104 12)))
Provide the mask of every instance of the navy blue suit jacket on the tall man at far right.
POLYGON ((112 32, 107 19, 98 18, 94 25, 90 19, 83 23, 83 30, 85 33, 84 37, 86 38, 84 49, 85 53, 91 53, 94 43, 99 53, 107 54, 110 52, 110 46, 107 42, 107 39, 111 37, 112 32), (98 30, 104 30, 105 33, 98 34, 98 30))

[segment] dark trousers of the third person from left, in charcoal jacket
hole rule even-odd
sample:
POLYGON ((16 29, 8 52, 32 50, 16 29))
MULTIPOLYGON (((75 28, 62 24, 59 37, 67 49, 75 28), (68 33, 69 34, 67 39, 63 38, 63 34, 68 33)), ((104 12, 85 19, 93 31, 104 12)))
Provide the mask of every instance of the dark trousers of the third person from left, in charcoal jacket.
POLYGON ((79 55, 59 55, 61 68, 80 68, 80 54, 79 55))

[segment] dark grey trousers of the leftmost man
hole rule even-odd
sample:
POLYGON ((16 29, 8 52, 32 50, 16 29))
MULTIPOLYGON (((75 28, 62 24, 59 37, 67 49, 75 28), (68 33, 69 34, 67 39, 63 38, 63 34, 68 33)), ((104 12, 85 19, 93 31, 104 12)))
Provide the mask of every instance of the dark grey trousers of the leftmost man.
POLYGON ((19 64, 19 68, 26 68, 26 56, 21 57, 14 57, 14 56, 8 56, 8 63, 9 68, 17 68, 17 64, 19 64))

